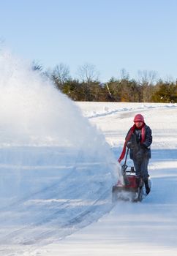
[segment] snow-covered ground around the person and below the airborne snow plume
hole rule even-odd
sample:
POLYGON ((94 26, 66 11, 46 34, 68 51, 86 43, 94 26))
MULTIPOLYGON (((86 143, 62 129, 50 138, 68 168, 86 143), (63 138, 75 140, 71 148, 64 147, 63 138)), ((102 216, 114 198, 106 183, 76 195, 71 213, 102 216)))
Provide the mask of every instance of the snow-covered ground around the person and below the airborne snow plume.
POLYGON ((110 149, 106 147, 103 152, 106 156, 112 151, 114 159, 121 152, 133 116, 143 114, 154 138, 149 164, 151 194, 142 203, 118 202, 113 206, 110 192, 115 162, 110 156, 109 162, 99 154, 89 156, 78 148, 1 148, 1 155, 12 156, 16 152, 16 157, 1 165, 4 197, 1 196, 0 254, 175 256, 176 105, 78 105, 105 135, 110 149), (23 164, 19 166, 18 162, 23 164), (11 187, 5 189, 5 181, 12 181, 10 177, 11 187), (8 192, 10 195, 6 195, 8 192))

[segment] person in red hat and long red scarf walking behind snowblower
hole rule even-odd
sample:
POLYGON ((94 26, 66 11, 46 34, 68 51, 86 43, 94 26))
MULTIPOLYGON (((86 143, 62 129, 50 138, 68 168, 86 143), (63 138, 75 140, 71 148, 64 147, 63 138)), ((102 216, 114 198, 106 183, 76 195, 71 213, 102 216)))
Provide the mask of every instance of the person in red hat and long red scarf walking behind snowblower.
POLYGON ((148 194, 150 192, 148 184, 148 161, 151 158, 151 128, 145 124, 141 114, 135 116, 134 123, 127 132, 124 148, 118 162, 124 159, 126 147, 129 148, 129 157, 134 163, 136 175, 139 177, 139 181, 140 177, 143 178, 146 194, 148 194))

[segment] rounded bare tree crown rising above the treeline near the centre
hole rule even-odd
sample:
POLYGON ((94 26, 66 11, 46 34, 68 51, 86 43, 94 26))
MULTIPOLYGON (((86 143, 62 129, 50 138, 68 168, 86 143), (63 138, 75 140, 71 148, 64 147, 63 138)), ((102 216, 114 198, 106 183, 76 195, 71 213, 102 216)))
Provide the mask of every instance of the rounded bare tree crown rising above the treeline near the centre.
POLYGON ((86 63, 78 67, 78 76, 85 83, 91 83, 99 79, 99 72, 92 64, 86 63))

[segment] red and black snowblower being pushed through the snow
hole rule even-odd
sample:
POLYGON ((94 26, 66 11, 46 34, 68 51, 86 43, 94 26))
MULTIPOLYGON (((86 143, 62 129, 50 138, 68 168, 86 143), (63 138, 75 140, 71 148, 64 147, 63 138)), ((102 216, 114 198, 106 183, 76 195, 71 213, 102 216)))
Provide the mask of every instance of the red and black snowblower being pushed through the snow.
POLYGON ((124 165, 121 166, 121 179, 118 179, 117 184, 113 186, 113 202, 119 199, 140 202, 146 196, 143 178, 136 175, 134 166, 129 167, 126 164, 128 153, 129 148, 127 149, 124 165))

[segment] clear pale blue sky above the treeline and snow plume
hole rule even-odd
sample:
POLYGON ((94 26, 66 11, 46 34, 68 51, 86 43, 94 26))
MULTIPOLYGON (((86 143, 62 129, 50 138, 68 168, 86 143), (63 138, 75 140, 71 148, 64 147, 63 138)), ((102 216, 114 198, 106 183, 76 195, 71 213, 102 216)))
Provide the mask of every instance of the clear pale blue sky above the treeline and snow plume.
POLYGON ((176 0, 0 0, 0 38, 45 69, 64 63, 73 78, 94 64, 102 82, 121 69, 177 78, 176 0))

